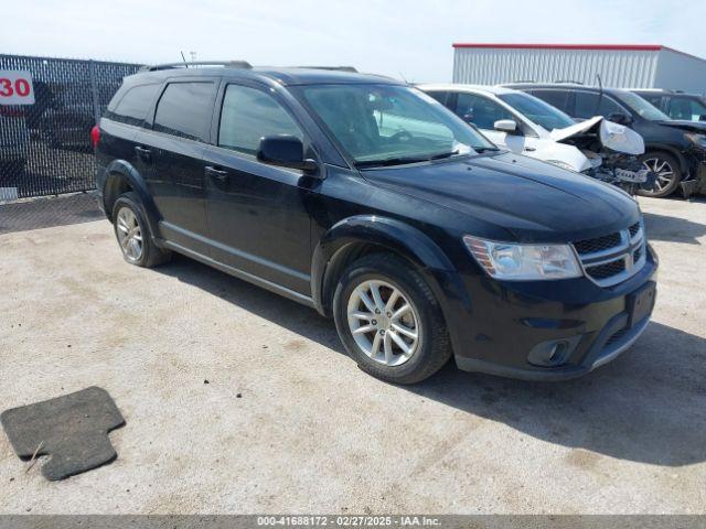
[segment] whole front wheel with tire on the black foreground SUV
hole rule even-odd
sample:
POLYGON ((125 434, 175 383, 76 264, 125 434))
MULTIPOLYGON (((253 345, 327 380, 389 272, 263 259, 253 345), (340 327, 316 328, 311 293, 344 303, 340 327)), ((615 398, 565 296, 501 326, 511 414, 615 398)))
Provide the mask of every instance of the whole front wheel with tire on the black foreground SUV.
POLYGON ((343 272, 333 313, 349 356, 383 380, 419 382, 451 357, 434 292, 417 270, 392 253, 363 257, 343 272))

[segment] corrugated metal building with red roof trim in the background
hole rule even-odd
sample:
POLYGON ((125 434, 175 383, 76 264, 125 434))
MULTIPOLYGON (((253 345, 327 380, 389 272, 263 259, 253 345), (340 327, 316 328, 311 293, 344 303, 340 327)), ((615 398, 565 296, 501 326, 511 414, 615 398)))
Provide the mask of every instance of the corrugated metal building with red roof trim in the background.
POLYGON ((614 88, 706 91, 706 60, 662 45, 453 44, 453 83, 574 80, 614 88))

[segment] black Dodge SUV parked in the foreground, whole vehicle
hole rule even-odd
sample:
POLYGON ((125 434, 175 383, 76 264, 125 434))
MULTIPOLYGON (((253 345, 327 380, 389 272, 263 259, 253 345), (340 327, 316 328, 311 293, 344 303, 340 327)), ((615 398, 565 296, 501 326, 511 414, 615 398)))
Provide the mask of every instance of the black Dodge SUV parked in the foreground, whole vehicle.
POLYGON ((333 316, 361 368, 576 377, 648 325, 637 203, 500 151, 384 77, 170 66, 127 77, 94 131, 125 259, 176 251, 333 316))

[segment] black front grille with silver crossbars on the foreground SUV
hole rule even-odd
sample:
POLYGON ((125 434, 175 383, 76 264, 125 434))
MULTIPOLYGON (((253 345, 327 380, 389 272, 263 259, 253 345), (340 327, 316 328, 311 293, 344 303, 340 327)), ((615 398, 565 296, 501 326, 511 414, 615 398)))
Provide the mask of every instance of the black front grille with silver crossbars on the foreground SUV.
POLYGON ((642 222, 620 231, 574 242, 586 276, 600 287, 611 287, 634 276, 644 264, 642 222))

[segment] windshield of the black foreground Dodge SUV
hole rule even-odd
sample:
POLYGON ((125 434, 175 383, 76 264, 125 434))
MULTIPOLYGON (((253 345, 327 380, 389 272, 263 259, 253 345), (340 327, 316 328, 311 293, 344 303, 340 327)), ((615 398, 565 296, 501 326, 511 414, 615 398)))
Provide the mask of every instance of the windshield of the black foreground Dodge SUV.
POLYGON ((301 88, 356 166, 414 163, 496 150, 436 99, 407 86, 315 85, 301 88))

